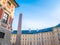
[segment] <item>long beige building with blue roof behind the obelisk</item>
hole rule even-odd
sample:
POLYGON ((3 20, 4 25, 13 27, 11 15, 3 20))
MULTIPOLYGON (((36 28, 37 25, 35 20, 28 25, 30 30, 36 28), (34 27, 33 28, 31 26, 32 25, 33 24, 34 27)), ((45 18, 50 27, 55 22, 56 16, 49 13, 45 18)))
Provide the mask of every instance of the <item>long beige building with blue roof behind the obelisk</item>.
MULTIPOLYGON (((17 31, 11 34, 11 44, 16 43, 17 31)), ((60 45, 60 24, 40 30, 22 30, 21 45, 60 45)))

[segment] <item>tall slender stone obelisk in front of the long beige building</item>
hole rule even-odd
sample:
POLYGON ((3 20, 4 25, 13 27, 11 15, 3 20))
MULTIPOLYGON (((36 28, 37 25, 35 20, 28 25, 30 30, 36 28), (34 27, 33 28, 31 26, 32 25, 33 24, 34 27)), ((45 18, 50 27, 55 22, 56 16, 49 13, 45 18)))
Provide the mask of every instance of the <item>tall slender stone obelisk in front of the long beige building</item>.
POLYGON ((16 45, 21 45, 21 24, 22 24, 22 14, 19 15, 16 45))

